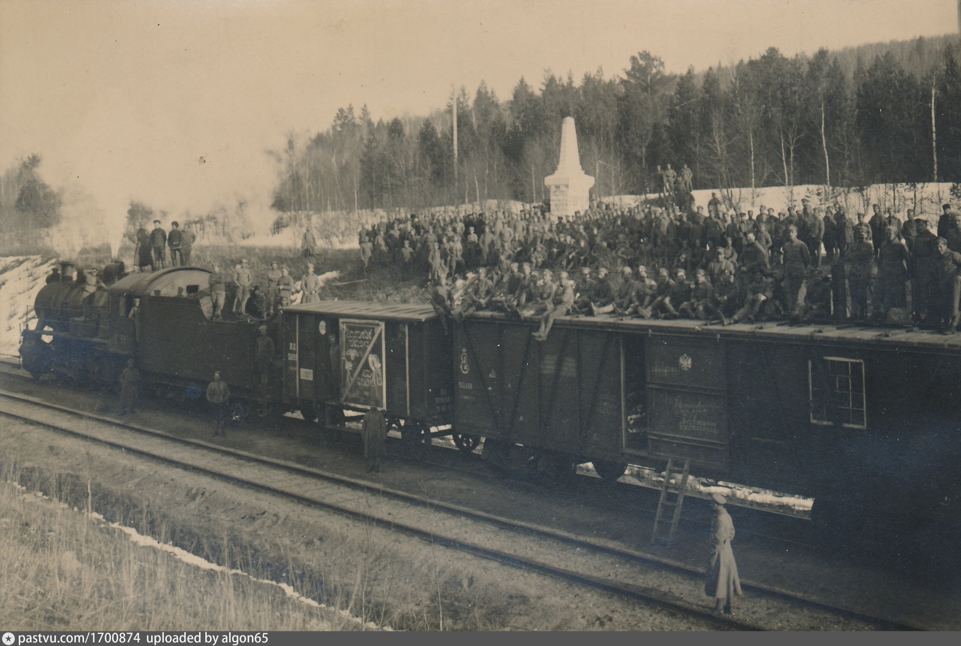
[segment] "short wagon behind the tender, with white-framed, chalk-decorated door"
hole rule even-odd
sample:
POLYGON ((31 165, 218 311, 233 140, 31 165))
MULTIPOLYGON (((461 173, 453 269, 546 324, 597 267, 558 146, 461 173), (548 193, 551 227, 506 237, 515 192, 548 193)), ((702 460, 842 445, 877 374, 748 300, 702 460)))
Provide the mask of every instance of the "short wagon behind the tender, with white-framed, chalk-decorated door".
MULTIPOLYGON (((283 399, 305 419, 386 410, 407 435, 454 417, 451 337, 429 305, 325 300, 283 310, 283 399)), ((449 434, 451 431, 448 430, 449 434)))

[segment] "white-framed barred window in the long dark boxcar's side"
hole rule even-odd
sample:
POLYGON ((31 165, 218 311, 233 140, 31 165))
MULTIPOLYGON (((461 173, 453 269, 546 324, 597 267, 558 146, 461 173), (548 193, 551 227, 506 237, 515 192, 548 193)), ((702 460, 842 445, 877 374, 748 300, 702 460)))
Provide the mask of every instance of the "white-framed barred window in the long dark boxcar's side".
POLYGON ((807 362, 807 383, 812 423, 867 428, 863 361, 813 359, 807 362))

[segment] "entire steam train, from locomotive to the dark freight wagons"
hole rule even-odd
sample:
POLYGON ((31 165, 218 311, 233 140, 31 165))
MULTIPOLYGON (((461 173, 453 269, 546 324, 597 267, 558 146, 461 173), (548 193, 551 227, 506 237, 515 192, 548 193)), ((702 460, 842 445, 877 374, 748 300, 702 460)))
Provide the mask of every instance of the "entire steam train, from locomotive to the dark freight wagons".
POLYGON ((812 495, 832 524, 859 511, 956 524, 961 511, 961 335, 575 316, 539 343, 496 313, 445 335, 429 306, 333 300, 284 308, 261 387, 257 324, 212 321, 208 276, 128 275, 86 316, 83 286, 47 285, 25 369, 109 382, 133 357, 189 396, 220 370, 241 398, 327 427, 376 406, 406 438, 453 434, 469 451, 482 437, 505 467, 593 462, 616 479, 628 462, 687 459, 697 475, 812 495))

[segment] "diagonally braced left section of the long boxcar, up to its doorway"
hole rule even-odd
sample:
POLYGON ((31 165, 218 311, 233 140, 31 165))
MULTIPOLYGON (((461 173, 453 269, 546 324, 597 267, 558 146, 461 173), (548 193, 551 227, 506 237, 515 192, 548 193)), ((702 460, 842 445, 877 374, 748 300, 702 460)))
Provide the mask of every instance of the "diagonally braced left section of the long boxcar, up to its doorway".
MULTIPOLYGON (((494 460, 520 453, 521 462, 536 459, 542 469, 593 460, 599 470, 616 470, 632 395, 622 388, 620 337, 570 319, 545 342, 530 336, 533 329, 486 312, 456 326, 458 431, 484 436, 494 460)), ((623 472, 621 465, 617 476, 623 472)))

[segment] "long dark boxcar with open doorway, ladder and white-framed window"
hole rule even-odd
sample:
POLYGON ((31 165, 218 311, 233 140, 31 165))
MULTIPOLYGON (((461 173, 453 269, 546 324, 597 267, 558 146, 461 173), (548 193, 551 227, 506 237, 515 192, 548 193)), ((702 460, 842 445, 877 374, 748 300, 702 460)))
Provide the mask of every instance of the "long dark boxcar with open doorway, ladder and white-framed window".
POLYGON ((673 457, 822 510, 959 511, 961 337, 565 317, 538 343, 532 329, 488 313, 456 329, 456 423, 496 454, 611 477, 673 457))

